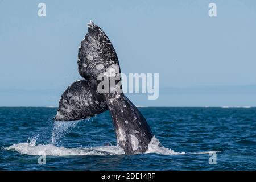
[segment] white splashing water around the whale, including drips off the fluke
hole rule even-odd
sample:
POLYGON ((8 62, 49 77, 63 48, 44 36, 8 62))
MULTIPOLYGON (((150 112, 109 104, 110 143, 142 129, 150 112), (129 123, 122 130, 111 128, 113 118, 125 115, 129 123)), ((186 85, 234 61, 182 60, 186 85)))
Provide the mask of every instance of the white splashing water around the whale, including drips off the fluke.
MULTIPOLYGON (((86 119, 85 121, 89 121, 86 119)), ((39 135, 34 135, 27 139, 27 143, 13 144, 10 147, 3 148, 4 150, 18 151, 20 154, 26 155, 52 155, 52 156, 69 156, 69 155, 123 155, 125 152, 119 146, 98 146, 98 147, 79 147, 65 148, 63 146, 55 146, 60 138, 68 134, 73 128, 77 127, 80 121, 57 121, 53 123, 51 143, 38 144, 36 140, 39 135)), ((83 122, 84 123, 84 122, 83 122)), ((160 144, 159 140, 153 136, 148 144, 148 150, 145 154, 161 154, 161 155, 184 155, 185 152, 175 152, 160 144)), ((208 154, 209 152, 194 152, 190 154, 208 154)), ((189 154, 189 153, 188 153, 189 154)))

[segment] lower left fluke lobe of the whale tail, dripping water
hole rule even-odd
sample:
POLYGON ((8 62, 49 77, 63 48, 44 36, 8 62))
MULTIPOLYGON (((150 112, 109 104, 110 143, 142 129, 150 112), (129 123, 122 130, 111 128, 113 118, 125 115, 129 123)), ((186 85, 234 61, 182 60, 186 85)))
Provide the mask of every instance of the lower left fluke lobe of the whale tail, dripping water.
POLYGON ((104 96, 96 92, 94 80, 73 82, 61 95, 55 121, 74 121, 108 110, 104 96))

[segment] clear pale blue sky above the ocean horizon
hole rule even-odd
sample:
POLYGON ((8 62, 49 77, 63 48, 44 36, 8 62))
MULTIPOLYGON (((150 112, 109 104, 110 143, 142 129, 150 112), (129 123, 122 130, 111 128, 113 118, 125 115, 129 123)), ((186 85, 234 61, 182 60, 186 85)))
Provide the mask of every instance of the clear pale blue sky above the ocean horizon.
POLYGON ((123 73, 159 73, 159 99, 129 94, 135 105, 256 106, 253 0, 0 0, 0 106, 57 106, 81 79, 77 51, 89 20, 109 36, 123 73))

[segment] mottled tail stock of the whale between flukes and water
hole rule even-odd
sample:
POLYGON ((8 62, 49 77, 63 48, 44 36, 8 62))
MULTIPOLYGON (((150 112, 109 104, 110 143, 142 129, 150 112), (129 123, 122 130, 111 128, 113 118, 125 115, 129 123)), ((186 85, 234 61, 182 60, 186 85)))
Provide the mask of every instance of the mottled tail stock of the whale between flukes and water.
POLYGON ((117 143, 125 154, 146 152, 153 137, 150 126, 137 107, 126 96, 120 95, 119 98, 110 96, 106 100, 113 119, 117 143))

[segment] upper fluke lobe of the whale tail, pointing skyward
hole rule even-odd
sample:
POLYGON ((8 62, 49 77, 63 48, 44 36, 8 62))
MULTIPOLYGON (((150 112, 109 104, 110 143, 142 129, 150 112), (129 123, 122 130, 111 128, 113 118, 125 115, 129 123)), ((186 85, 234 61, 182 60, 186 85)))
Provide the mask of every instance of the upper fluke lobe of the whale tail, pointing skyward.
POLYGON ((85 79, 97 80, 100 73, 110 65, 118 65, 117 54, 108 36, 92 21, 88 23, 88 33, 81 42, 78 55, 79 74, 85 79))

